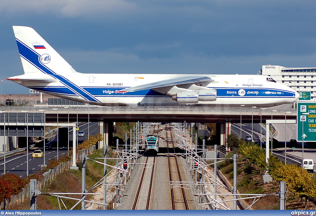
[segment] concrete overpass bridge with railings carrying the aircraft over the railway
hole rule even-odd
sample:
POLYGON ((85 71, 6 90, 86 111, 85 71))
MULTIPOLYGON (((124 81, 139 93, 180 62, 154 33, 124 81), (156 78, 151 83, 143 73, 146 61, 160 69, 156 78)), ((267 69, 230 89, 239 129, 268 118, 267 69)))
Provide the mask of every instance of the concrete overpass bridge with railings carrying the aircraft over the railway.
MULTIPOLYGON (((101 107, 92 105, 37 105, 0 107, 5 113, 44 113, 46 122, 99 122, 100 133, 108 144, 113 122, 199 122, 216 123, 216 131, 221 145, 230 134, 231 123, 265 123, 265 120, 296 120, 295 109, 245 108, 245 107, 101 107)), ((0 119, 0 125, 3 119, 0 119)), ((1 142, 1 141, 0 141, 1 142)), ((101 143, 103 145, 103 143, 101 143)))

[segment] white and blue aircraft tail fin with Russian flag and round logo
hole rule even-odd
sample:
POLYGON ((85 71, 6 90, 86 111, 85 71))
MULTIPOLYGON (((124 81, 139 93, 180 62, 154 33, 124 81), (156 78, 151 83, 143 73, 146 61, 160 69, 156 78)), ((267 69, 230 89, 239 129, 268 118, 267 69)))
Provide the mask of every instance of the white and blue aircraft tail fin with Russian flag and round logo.
POLYGON ((25 74, 77 73, 33 28, 13 26, 25 74))

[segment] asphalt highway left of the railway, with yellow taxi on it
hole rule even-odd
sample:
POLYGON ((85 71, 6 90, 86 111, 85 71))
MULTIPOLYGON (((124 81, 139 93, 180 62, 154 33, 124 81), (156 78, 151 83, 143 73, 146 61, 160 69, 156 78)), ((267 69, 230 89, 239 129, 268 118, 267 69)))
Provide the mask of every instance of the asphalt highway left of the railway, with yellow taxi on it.
MULTIPOLYGON (((78 125, 79 130, 83 131, 84 137, 78 137, 78 143, 82 143, 88 137, 88 123, 81 123, 78 125)), ((99 133, 99 124, 95 122, 90 122, 89 124, 89 133, 90 135, 95 136, 99 133)), ((46 164, 52 158, 57 158, 57 135, 50 141, 52 144, 52 150, 45 150, 45 159, 46 164)), ((72 128, 69 133, 69 143, 70 149, 72 148, 72 128)), ((44 158, 32 158, 32 153, 34 150, 40 149, 43 151, 43 148, 33 148, 28 151, 28 174, 35 174, 41 168, 41 165, 44 164, 44 158)), ((67 153, 68 146, 59 146, 58 155, 62 156, 67 153)), ((14 173, 22 178, 27 176, 27 153, 26 151, 10 155, 6 157, 6 173, 14 173)), ((1 176, 4 174, 4 159, 0 160, 0 174, 1 176)))

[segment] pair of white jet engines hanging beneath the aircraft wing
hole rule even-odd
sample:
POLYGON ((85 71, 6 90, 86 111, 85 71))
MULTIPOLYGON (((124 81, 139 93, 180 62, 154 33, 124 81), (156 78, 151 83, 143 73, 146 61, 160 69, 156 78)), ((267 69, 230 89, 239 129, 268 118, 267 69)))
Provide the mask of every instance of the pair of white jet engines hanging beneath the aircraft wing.
POLYGON ((179 91, 172 96, 177 103, 197 103, 199 101, 216 101, 216 89, 199 89, 196 91, 179 91))

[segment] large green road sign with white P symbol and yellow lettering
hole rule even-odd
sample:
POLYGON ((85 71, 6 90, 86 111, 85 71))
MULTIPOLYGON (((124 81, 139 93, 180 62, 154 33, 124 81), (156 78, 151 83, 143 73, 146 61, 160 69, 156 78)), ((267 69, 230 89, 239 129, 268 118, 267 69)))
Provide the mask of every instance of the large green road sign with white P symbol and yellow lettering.
POLYGON ((304 141, 316 142, 316 103, 297 103, 297 141, 303 136, 304 141))

